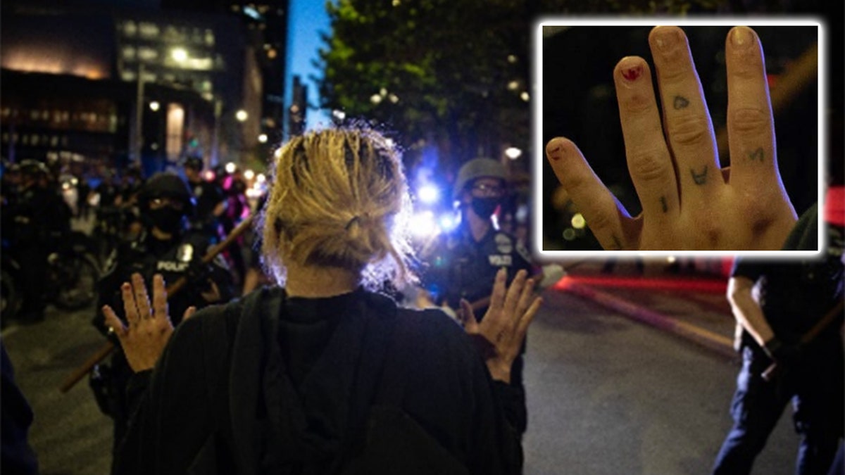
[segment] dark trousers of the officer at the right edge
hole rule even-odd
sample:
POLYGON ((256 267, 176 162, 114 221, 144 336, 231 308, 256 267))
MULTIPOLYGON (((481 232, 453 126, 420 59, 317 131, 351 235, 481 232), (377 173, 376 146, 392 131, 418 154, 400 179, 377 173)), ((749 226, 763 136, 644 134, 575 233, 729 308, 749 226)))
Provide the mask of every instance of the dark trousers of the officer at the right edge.
POLYGON ((842 340, 837 334, 818 341, 776 379, 761 377, 771 359, 757 347, 743 348, 743 367, 731 403, 733 428, 722 443, 714 474, 750 473, 787 404, 801 436, 795 472, 827 473, 836 456, 843 425, 842 340))

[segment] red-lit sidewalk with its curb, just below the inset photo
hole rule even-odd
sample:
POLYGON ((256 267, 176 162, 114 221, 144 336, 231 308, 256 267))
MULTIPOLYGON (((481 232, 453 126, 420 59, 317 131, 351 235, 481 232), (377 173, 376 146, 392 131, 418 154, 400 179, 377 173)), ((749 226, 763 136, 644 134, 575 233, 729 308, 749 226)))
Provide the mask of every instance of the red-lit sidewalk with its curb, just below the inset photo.
POLYGON ((602 273, 602 261, 567 271, 552 288, 611 308, 647 325, 733 358, 734 320, 725 298, 727 279, 698 273, 672 274, 647 263, 644 274, 620 261, 602 273))

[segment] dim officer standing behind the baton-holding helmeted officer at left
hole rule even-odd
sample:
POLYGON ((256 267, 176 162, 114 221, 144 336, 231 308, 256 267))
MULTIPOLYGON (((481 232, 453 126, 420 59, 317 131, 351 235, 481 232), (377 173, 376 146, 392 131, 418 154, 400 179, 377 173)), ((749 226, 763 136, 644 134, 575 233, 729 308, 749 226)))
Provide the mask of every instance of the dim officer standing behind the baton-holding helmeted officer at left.
POLYGON ((191 228, 204 232, 216 242, 221 237, 218 225, 226 212, 226 194, 215 181, 203 179, 202 157, 189 156, 185 159, 184 167, 188 186, 197 203, 196 213, 190 220, 191 228))

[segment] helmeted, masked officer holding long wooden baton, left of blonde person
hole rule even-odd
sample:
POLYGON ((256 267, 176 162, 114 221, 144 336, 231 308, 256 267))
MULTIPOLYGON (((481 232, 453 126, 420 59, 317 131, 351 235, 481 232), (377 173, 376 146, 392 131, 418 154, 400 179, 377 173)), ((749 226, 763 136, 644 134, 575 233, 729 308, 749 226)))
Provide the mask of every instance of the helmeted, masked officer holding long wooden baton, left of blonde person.
MULTIPOLYGON (((181 321, 190 306, 202 308, 233 297, 232 276, 225 262, 215 259, 210 265, 202 264, 210 247, 209 239, 186 230, 187 217, 194 212, 194 198, 182 178, 169 173, 150 177, 140 190, 139 209, 144 231, 112 252, 106 262, 106 274, 99 283, 94 325, 110 338, 100 308, 121 304, 121 286, 134 273, 139 273, 145 281, 161 274, 169 284, 181 277, 188 279, 187 285, 168 299, 173 325, 181 321)), ((90 381, 101 410, 114 419, 115 447, 123 438, 128 421, 126 389, 131 374, 123 352, 117 351, 111 366, 95 369, 90 381)))

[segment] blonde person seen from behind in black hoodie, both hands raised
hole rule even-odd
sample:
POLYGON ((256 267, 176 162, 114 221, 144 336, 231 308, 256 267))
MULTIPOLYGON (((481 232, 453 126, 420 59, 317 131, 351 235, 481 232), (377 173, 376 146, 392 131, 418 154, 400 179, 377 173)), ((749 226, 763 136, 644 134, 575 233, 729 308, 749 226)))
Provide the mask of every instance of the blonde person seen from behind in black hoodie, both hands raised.
POLYGON ((397 308, 367 290, 410 277, 395 149, 333 128, 278 157, 262 231, 284 288, 201 310, 172 337, 161 279, 151 304, 140 276, 125 286, 128 326, 106 308, 139 398, 118 472, 520 472, 507 382, 533 282, 505 291, 500 272, 472 338, 438 310, 397 308))

